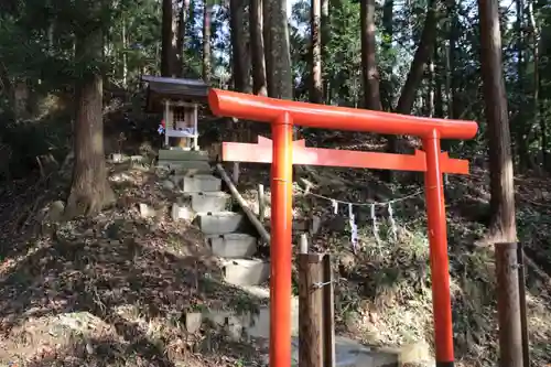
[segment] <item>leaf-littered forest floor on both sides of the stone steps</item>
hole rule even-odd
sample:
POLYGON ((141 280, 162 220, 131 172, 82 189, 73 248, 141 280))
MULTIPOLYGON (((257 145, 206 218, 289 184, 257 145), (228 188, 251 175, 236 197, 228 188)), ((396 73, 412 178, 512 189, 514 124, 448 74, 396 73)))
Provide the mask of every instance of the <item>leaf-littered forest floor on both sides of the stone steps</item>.
MULTIPOLYGON (((110 133, 115 140, 119 136, 110 133)), ((149 147, 148 133, 133 153, 154 151, 143 148, 149 147)), ((359 137, 339 136, 346 144, 322 134, 307 140, 345 147, 365 143, 359 137)), ((109 164, 117 205, 94 218, 62 223, 58 201, 71 182, 69 166, 0 187, 0 366, 260 365, 266 345, 236 344, 209 330, 185 332, 186 311, 239 311, 261 301, 220 281, 217 259, 208 255, 197 228, 170 219, 173 194, 154 173, 141 164, 109 164), (155 214, 144 216, 140 204, 155 214)), ((257 184, 268 183, 269 170, 252 164, 241 169, 239 188, 253 205, 257 184)), ((495 366, 495 270, 493 249, 482 240, 488 173, 479 164, 472 172, 450 176, 446 184, 455 348, 460 366, 495 366)), ((423 350, 415 353, 432 353, 423 195, 392 205, 397 239, 386 206, 377 212, 379 241, 370 207, 357 207, 359 248, 354 253, 346 215, 334 215, 329 201, 300 190, 307 183, 311 193, 331 198, 387 203, 422 190, 422 180, 400 176, 402 184, 387 185, 366 170, 307 168, 296 173, 296 216, 322 218, 313 249, 329 250, 339 276, 337 332, 370 345, 418 345, 423 350)), ((519 237, 529 257, 534 366, 551 363, 548 182, 536 176, 515 182, 519 237)))

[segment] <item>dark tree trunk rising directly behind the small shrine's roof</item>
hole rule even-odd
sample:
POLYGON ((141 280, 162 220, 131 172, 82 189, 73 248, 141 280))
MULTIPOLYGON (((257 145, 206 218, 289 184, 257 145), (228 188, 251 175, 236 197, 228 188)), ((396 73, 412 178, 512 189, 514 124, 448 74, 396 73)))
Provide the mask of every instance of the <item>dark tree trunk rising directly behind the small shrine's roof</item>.
POLYGON ((161 75, 175 76, 176 21, 172 0, 163 0, 161 75))

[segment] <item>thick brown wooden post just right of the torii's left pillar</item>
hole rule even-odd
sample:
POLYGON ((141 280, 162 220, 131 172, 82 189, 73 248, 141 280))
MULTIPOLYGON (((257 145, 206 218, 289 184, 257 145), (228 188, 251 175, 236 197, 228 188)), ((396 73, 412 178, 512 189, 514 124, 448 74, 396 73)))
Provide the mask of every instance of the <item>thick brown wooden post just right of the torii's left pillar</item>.
MULTIPOLYGON (((303 250, 303 248, 301 248, 301 250, 303 250)), ((322 307, 323 257, 317 253, 300 253, 299 366, 323 367, 324 354, 322 307)))

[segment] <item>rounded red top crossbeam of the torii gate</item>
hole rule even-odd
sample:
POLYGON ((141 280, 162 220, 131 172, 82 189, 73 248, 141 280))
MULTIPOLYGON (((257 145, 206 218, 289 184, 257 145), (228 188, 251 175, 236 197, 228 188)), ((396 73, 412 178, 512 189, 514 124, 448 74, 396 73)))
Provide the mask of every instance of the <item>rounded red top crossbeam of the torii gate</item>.
POLYGON ((216 116, 273 122, 288 112, 293 125, 335 130, 368 131, 426 138, 434 130, 441 139, 472 139, 478 126, 474 121, 433 119, 282 100, 240 93, 210 89, 208 105, 216 116))

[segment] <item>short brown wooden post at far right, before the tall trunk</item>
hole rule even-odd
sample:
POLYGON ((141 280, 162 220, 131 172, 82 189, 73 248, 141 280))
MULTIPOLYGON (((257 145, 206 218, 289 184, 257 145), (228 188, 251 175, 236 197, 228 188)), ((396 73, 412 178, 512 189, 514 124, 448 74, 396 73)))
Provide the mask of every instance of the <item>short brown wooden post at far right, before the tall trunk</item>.
POLYGON ((517 244, 496 244, 499 366, 522 367, 517 244))

